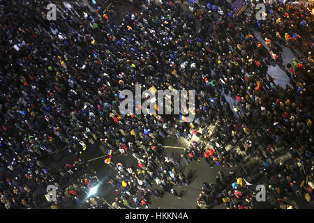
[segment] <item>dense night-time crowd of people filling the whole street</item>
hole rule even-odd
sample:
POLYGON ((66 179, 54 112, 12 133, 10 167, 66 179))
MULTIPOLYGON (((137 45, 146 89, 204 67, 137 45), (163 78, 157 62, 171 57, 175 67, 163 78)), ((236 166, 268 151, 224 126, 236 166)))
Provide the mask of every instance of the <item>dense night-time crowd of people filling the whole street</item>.
MULTIPOLYGON (((39 207, 45 197, 36 191, 51 184, 58 187, 52 208, 86 203, 77 194, 85 196, 99 180, 81 156, 93 153, 96 141, 109 157, 104 165, 118 174, 110 180, 112 205, 92 198, 91 208, 151 208, 151 197, 165 192, 181 198, 174 185, 190 179, 179 171, 180 160, 163 155, 161 142, 193 135, 200 141, 182 153, 186 164, 204 157, 210 167, 239 167, 246 163, 233 149, 239 146, 260 157, 256 169, 268 179, 269 208, 299 208, 293 194, 313 205, 312 5, 267 1, 266 20, 257 21, 254 14, 235 15, 228 1, 200 1, 191 10, 176 1, 137 1, 140 8, 119 22, 114 3, 55 2, 56 21, 47 20, 47 0, 0 4, 1 208, 39 207), (283 46, 295 54, 287 66, 283 46), (285 70, 290 85, 276 84, 269 65, 285 70), (121 114, 120 93, 135 91, 135 84, 195 90, 195 119, 121 114), (212 132, 205 131, 209 124, 216 126, 212 132), (269 162, 263 151, 276 153, 280 146, 294 162, 269 162), (47 168, 41 157, 60 149, 76 161, 47 168), (138 167, 112 163, 114 155, 133 155, 138 167)), ((246 3, 254 11, 258 2, 246 3)), ((204 183, 197 206, 254 208, 248 171, 238 175, 204 183)))

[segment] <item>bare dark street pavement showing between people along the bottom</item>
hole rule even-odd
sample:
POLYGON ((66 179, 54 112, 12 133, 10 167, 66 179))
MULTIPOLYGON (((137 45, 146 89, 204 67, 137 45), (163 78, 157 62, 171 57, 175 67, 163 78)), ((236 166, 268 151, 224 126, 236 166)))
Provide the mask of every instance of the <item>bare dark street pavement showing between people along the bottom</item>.
MULTIPOLYGON (((186 143, 184 141, 185 140, 183 139, 178 140, 177 138, 167 138, 163 141, 163 146, 186 146, 186 143)), ((165 193, 162 199, 152 199, 152 208, 195 208, 196 197, 201 192, 202 183, 204 181, 206 181, 207 183, 214 183, 218 171, 223 171, 223 173, 226 175, 229 174, 230 169, 225 169, 223 167, 214 167, 214 169, 211 169, 209 165, 204 161, 204 159, 200 161, 193 161, 190 162, 190 164, 186 165, 183 160, 179 160, 179 155, 182 152, 183 149, 181 148, 164 148, 165 156, 174 157, 175 160, 178 160, 180 163, 179 169, 184 170, 184 174, 186 176, 192 174, 192 182, 190 183, 190 185, 188 185, 188 187, 174 187, 174 189, 177 190, 179 194, 183 193, 181 199, 174 197, 173 194, 165 193)), ((120 156, 119 158, 113 156, 112 162, 121 162, 126 168, 132 167, 133 169, 136 169, 138 167, 137 160, 131 155, 128 155, 126 157, 120 156)), ((109 183, 106 183, 106 181, 109 180, 111 176, 115 176, 115 174, 117 174, 117 171, 114 168, 109 167, 107 164, 105 164, 103 162, 103 159, 92 161, 92 164, 98 172, 97 175, 100 180, 103 180, 103 184, 98 190, 98 195, 105 197, 108 203, 112 203, 114 201, 114 188, 109 183)), ((158 187, 157 185, 153 185, 153 188, 161 189, 161 187, 158 187)), ((223 208, 223 206, 218 206, 217 208, 223 208)))

